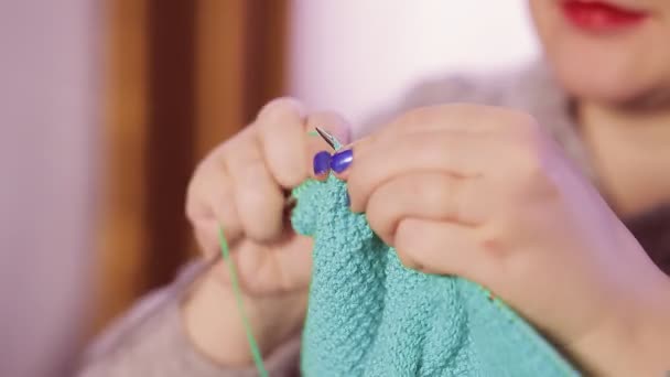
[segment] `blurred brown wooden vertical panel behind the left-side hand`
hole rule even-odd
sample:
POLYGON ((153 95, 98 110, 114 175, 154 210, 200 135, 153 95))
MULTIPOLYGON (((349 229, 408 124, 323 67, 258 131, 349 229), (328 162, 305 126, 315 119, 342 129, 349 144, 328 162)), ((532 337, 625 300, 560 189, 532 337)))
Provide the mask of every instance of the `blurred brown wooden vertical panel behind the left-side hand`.
POLYGON ((283 93, 284 0, 105 0, 105 176, 95 331, 194 256, 197 161, 283 93))

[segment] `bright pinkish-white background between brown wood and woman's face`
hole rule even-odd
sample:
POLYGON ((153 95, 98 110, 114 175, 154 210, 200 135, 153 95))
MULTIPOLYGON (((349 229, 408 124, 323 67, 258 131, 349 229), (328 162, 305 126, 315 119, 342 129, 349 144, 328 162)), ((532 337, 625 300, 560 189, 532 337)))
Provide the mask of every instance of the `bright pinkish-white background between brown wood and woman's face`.
POLYGON ((355 125, 421 79, 538 53, 527 0, 293 0, 289 91, 355 125))

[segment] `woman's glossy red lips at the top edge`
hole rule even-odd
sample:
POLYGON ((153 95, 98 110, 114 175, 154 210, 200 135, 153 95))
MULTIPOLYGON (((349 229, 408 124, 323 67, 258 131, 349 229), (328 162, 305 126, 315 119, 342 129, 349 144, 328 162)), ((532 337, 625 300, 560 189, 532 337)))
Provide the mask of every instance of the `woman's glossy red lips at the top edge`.
POLYGON ((563 14, 575 26, 592 32, 617 31, 640 24, 647 13, 617 6, 585 0, 563 1, 563 14))

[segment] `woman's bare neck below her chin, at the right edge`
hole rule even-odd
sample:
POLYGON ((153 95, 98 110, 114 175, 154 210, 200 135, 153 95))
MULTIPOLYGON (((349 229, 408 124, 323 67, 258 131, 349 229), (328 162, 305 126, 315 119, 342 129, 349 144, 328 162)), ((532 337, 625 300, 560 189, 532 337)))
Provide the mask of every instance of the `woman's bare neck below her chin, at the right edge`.
POLYGON ((601 190, 615 211, 633 215, 670 203, 670 109, 576 108, 601 190))

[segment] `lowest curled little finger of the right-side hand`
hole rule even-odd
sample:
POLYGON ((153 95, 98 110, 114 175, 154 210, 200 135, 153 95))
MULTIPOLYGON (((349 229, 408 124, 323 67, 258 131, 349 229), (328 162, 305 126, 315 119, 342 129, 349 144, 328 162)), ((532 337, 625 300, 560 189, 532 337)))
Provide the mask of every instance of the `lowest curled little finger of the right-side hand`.
POLYGON ((445 222, 407 218, 398 225, 395 248, 409 268, 475 280, 490 268, 476 231, 445 222))

